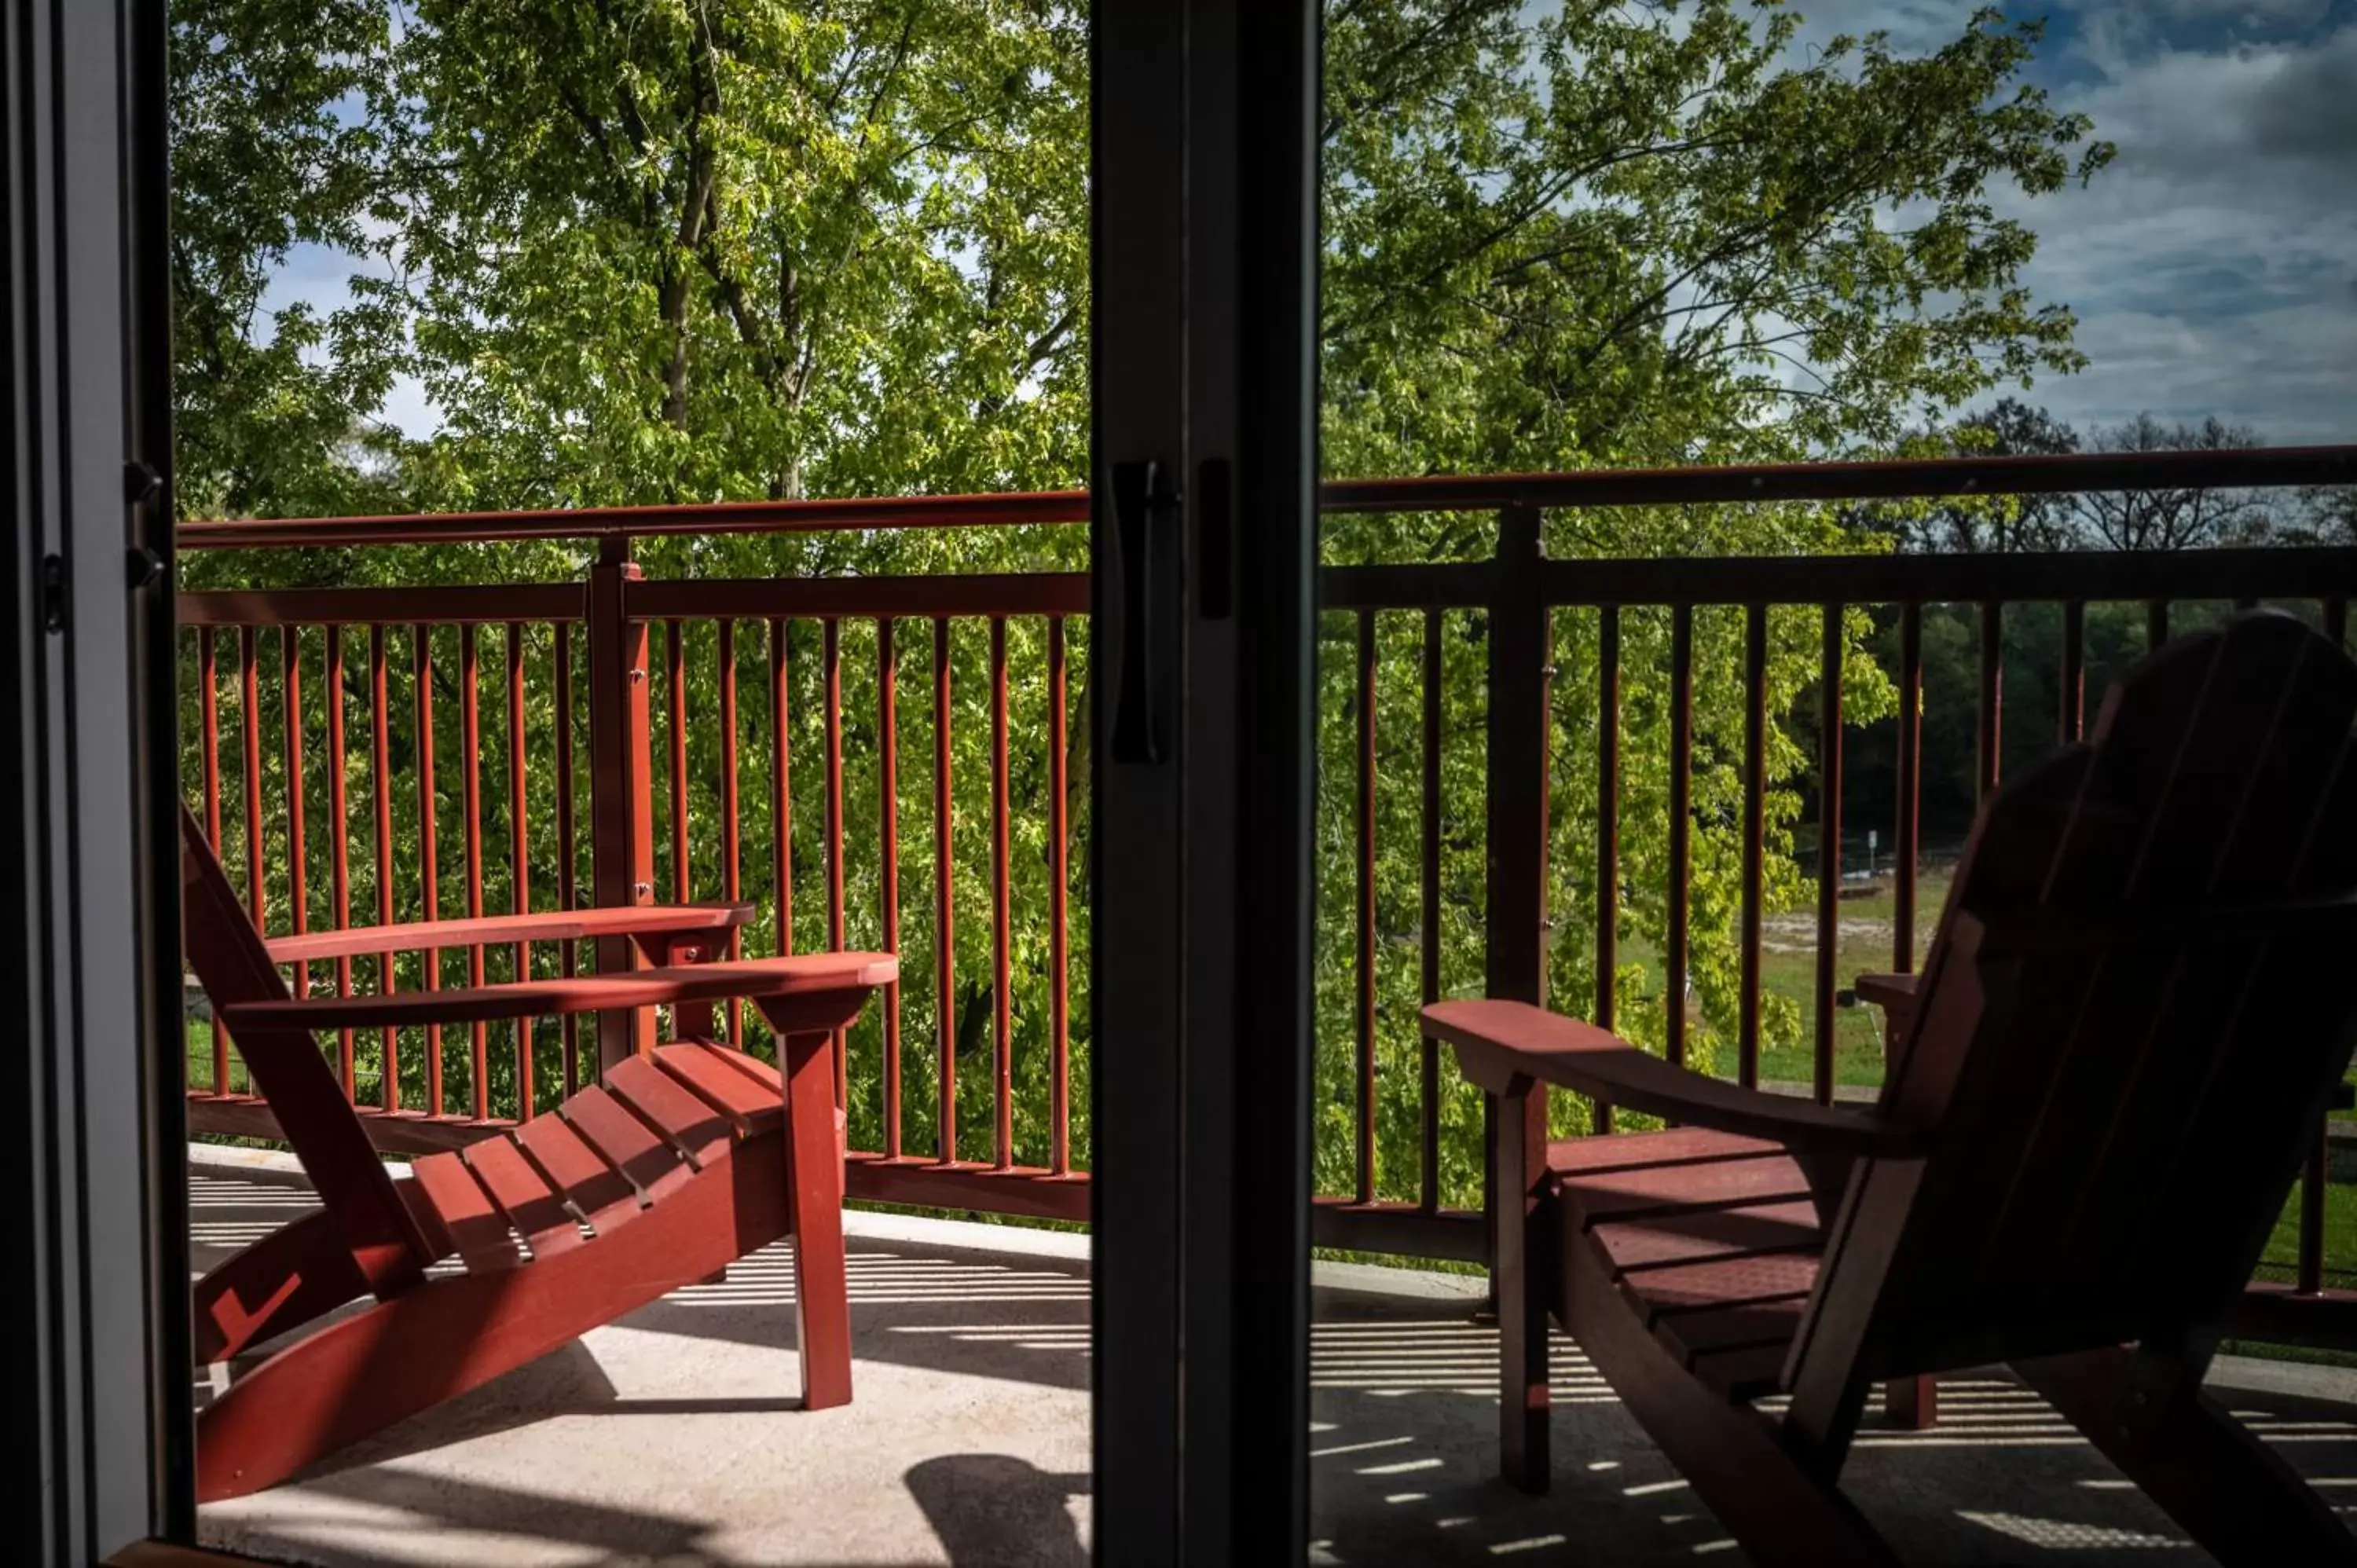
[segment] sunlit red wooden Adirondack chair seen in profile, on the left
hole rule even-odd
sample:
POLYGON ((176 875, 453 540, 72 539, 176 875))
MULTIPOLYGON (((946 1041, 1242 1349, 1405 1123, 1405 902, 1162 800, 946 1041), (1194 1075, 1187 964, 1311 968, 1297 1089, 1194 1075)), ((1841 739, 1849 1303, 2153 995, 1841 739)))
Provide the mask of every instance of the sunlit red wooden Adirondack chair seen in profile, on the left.
MULTIPOLYGON (((196 1285, 200 1365, 313 1325, 198 1417, 200 1502, 276 1485, 787 1233, 804 1408, 851 1398, 832 1033, 896 976, 889 953, 297 1000, 278 974, 285 955, 255 931, 186 811, 181 901, 184 946, 214 1019, 231 1030, 323 1205, 196 1285), (457 1153, 429 1153, 401 1181, 377 1160, 313 1037, 655 1004, 693 1023, 726 997, 750 1000, 780 1033, 783 1075, 721 1045, 662 1045, 608 1068, 603 1087, 573 1094, 559 1113, 457 1153), (427 1278, 453 1254, 464 1273, 427 1278), (318 1325, 370 1297, 363 1311, 318 1325)), ((719 915, 726 910, 582 910, 476 924, 500 927, 490 941, 632 934, 674 953, 681 934, 719 915)), ((361 950, 384 953, 453 946, 453 936, 448 924, 354 934, 377 943, 361 950)), ((709 929, 700 941, 709 948, 709 929)))

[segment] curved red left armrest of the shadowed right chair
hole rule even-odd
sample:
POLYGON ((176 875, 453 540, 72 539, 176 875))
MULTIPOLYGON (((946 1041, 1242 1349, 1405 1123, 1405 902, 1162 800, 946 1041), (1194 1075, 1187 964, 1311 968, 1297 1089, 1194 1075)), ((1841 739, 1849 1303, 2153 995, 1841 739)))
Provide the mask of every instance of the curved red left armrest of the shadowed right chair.
POLYGON ((1926 1144, 1919 1129, 1881 1115, 1688 1073, 1593 1023, 1527 1002, 1433 1002, 1424 1009, 1424 1030, 1457 1047, 1466 1078, 1490 1094, 1520 1094, 1532 1082, 1551 1082, 1631 1111, 1808 1153, 1909 1158, 1921 1155, 1926 1144))

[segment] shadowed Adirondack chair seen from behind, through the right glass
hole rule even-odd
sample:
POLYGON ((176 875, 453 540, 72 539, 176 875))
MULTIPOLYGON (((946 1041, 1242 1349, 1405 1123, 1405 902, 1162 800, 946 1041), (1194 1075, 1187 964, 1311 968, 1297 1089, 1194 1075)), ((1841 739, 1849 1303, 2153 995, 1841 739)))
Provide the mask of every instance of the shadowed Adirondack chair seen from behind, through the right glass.
POLYGON ((2140 663, 1992 797, 1874 1111, 1428 1007, 1506 1101, 1506 1474, 1549 1478, 1553 1311, 1758 1563, 1895 1561, 1836 1485, 1867 1391, 1994 1363, 2220 1561, 2357 1563, 2201 1394, 2357 1037, 2352 717, 2357 665, 2286 615, 2140 663), (1678 1125, 1549 1148, 1537 1085, 1678 1125))

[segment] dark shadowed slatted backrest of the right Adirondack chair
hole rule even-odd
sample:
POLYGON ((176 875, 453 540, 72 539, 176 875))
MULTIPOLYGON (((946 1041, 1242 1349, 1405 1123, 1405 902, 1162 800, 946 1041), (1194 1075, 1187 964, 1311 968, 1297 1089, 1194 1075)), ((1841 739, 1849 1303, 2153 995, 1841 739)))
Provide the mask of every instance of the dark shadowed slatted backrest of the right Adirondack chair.
POLYGON ((2348 1066, 2357 988, 2319 979, 2350 910, 2312 898, 2232 941, 2190 920, 2093 955, 1985 957, 1975 934, 2022 910, 2051 927, 2357 887, 2352 722, 2343 651, 2237 615, 2147 658, 2086 745, 1999 792, 1883 1099, 1937 1129, 1933 1153, 1853 1177, 1789 1375, 2216 1327, 2348 1066))

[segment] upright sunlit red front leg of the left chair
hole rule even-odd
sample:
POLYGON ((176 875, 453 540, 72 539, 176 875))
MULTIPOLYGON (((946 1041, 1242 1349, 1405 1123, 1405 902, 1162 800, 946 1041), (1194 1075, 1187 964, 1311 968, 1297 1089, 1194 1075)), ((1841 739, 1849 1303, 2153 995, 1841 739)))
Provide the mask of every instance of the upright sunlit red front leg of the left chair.
POLYGON ((801 1408, 851 1403, 844 1165, 834 1137, 834 1035, 785 1037, 785 1186, 794 1217, 801 1408))

